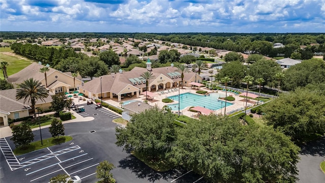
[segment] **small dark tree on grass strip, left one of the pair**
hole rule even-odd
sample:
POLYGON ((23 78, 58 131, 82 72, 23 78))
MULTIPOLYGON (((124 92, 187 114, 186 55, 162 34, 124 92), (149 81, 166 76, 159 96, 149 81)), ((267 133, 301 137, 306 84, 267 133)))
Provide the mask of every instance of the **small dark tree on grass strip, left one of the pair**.
POLYGON ((27 146, 31 141, 34 140, 34 134, 32 133, 29 126, 22 123, 21 125, 11 124, 12 140, 16 147, 27 146))

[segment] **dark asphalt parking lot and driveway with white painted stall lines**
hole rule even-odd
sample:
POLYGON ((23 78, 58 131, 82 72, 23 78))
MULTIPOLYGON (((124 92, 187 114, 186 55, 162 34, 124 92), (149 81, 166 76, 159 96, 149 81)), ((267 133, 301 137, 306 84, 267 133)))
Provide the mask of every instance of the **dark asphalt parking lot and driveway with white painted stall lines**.
MULTIPOLYGON (((93 116, 94 120, 64 124, 66 135, 72 136, 73 140, 18 156, 21 168, 11 171, 1 153, 0 182, 49 182, 51 177, 66 173, 78 175, 82 182, 96 182, 99 180, 95 178, 96 166, 104 160, 116 167, 111 172, 117 182, 204 182, 200 175, 182 168, 156 172, 117 147, 116 124, 112 123, 116 118, 114 113, 85 105, 85 113, 80 114, 93 116)), ((35 141, 40 140, 39 130, 33 133, 35 141)), ((42 137, 51 137, 48 129, 42 129, 42 137)), ((6 140, 14 149, 10 137, 6 140)))

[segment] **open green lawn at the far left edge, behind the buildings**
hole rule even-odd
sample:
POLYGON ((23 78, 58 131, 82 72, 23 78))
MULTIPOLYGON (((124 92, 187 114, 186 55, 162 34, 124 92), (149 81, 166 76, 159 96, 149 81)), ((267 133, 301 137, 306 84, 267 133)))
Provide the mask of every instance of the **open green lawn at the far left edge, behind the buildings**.
MULTIPOLYGON (((0 61, 1 62, 5 61, 8 63, 8 67, 7 67, 8 76, 21 71, 22 69, 24 69, 25 67, 29 66, 32 63, 32 61, 27 58, 4 54, 3 52, 11 52, 11 49, 7 47, 0 49, 0 61)), ((0 78, 4 79, 3 74, 0 74, 0 78)))

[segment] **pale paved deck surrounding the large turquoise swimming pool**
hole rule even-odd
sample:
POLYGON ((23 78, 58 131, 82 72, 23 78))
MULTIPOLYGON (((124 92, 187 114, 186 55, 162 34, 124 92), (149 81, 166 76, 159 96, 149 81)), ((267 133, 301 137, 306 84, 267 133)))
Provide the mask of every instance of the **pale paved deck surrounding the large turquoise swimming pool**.
MULTIPOLYGON (((200 88, 200 90, 206 90, 208 93, 220 93, 220 94, 225 95, 225 92, 222 91, 222 90, 216 91, 216 90, 210 90, 210 89, 206 89, 206 88, 200 88)), ((148 100, 148 104, 150 104, 152 106, 157 105, 159 108, 163 108, 165 105, 178 104, 178 101, 172 102, 172 103, 161 102, 161 100, 163 100, 163 99, 165 99, 167 97, 175 96, 175 95, 178 95, 178 94, 184 94, 184 93, 192 93, 192 94, 199 95, 199 94, 196 93, 198 91, 198 89, 194 89, 194 88, 190 88, 190 87, 183 87, 183 89, 180 88, 179 91, 177 90, 177 91, 173 91, 173 92, 171 92, 171 89, 169 89, 170 93, 166 93, 167 91, 168 90, 165 90, 164 94, 161 94, 161 92, 155 92, 155 94, 157 94, 157 96, 153 97, 153 100, 148 100)), ((234 112, 235 110, 239 110, 239 109, 245 110, 245 105, 246 105, 245 99, 243 97, 239 97, 239 95, 234 94, 232 92, 227 92, 227 96, 230 96, 230 95, 232 95, 235 98, 235 101, 227 101, 229 103, 233 103, 233 105, 226 107, 226 114, 230 114, 232 111, 234 112)), ((130 100, 144 101, 144 100, 146 100, 146 96, 145 95, 140 95, 139 98, 136 98, 136 99, 133 98, 133 99, 130 99, 130 100)), ((112 105, 115 105, 115 106, 118 106, 118 107, 121 106, 119 102, 116 102, 116 101, 113 101, 113 100, 110 100, 110 99, 105 100, 105 102, 107 102, 109 104, 112 104, 112 105)), ((247 102, 247 108, 249 106, 254 105, 256 102, 257 101, 250 99, 247 102)), ((193 104, 193 106, 196 106, 196 105, 193 104)), ((186 107, 185 109, 180 110, 181 114, 189 116, 189 117, 195 117, 195 115, 197 115, 197 113, 188 111, 188 108, 189 107, 186 107)), ((172 110, 172 112, 176 113, 176 112, 178 112, 178 110, 172 110)), ((222 109, 215 110, 213 113, 214 114, 221 114, 221 112, 222 112, 222 114, 224 114, 224 107, 222 109)))

